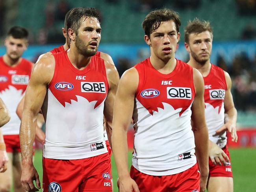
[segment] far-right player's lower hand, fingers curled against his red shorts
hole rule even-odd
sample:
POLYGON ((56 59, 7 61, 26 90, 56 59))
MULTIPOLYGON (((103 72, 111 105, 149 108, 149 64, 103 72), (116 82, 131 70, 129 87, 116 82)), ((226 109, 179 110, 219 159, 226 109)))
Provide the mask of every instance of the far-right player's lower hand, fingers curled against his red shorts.
POLYGON ((227 162, 230 162, 228 155, 215 143, 212 142, 211 148, 209 149, 209 157, 213 164, 226 166, 227 162), (222 162, 222 164, 221 164, 222 162))

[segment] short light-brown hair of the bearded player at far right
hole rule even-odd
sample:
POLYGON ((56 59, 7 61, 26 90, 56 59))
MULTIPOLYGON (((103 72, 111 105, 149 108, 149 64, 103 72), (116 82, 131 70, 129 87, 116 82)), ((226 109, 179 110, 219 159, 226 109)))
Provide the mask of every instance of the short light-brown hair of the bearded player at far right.
POLYGON ((199 20, 198 18, 194 18, 193 21, 189 20, 185 28, 185 42, 189 43, 189 35, 191 33, 199 34, 204 31, 209 31, 211 33, 211 37, 213 37, 213 30, 209 21, 199 20))

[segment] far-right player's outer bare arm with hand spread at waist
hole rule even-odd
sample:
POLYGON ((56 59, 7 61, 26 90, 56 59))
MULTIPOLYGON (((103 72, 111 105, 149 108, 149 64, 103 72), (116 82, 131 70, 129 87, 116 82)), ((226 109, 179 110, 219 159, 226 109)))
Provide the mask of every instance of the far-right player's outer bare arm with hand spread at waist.
POLYGON ((237 111, 236 111, 232 93, 231 93, 232 81, 227 72, 224 72, 224 74, 225 74, 225 79, 227 84, 227 90, 224 98, 224 109, 225 109, 225 113, 228 114, 228 120, 223 127, 221 127, 216 131, 216 133, 221 133, 222 131, 228 130, 228 132, 231 133, 232 141, 237 142, 237 139, 238 139, 237 133, 236 133, 237 111))

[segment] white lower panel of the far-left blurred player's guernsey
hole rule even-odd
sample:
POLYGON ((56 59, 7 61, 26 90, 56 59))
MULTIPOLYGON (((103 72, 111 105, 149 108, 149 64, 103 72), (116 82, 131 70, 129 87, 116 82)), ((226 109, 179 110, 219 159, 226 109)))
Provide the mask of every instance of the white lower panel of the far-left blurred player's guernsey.
POLYGON ((17 90, 11 85, 8 86, 8 89, 0 92, 0 98, 5 103, 11 116, 10 121, 1 127, 3 135, 19 135, 20 133, 20 118, 16 114, 16 109, 22 99, 22 92, 22 89, 17 90))

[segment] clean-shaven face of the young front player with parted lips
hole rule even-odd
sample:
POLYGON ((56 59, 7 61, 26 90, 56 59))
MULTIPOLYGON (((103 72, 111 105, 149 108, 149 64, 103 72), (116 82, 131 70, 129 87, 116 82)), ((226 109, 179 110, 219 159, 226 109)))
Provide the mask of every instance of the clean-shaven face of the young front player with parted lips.
POLYGON ((150 34, 150 40, 146 40, 150 46, 151 54, 163 61, 174 57, 176 45, 180 39, 176 25, 172 20, 161 22, 159 28, 150 34))

